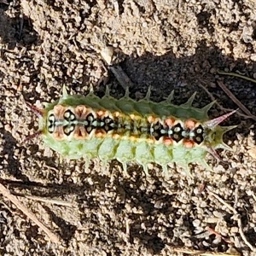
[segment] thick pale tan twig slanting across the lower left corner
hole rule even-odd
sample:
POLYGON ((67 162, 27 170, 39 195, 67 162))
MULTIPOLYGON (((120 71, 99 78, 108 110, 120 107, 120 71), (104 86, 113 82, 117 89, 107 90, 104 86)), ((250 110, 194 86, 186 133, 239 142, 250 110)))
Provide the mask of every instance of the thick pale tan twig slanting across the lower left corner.
POLYGON ((30 218, 35 224, 38 225, 39 228, 41 228, 42 230, 44 230, 44 232, 47 234, 47 236, 49 236, 50 241, 55 242, 55 243, 61 243, 61 240, 58 236, 56 236, 53 232, 51 232, 47 227, 44 226, 44 224, 42 224, 39 219, 32 214, 32 212, 30 212, 26 207, 24 207, 20 201, 16 198, 15 195, 11 195, 9 190, 6 189, 3 184, 0 183, 0 193, 3 194, 3 196, 5 196, 6 198, 9 199, 9 201, 11 201, 13 204, 15 204, 15 206, 17 208, 20 209, 21 212, 23 212, 27 218, 30 218))

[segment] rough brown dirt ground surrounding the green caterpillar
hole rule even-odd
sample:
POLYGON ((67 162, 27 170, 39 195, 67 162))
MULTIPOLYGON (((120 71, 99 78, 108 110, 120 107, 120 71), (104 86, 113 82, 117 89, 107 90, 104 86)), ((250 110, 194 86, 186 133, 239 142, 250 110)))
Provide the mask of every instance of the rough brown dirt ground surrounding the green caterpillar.
POLYGON ((50 241, 2 196, 2 255, 256 255, 255 128, 242 112, 225 123, 238 125, 225 136, 233 152, 220 151, 219 163, 207 157, 214 172, 191 165, 193 177, 178 165, 169 179, 155 165, 146 177, 136 164, 125 176, 116 160, 84 171, 83 160, 61 160, 40 138, 24 143, 38 119, 23 98, 40 107, 63 84, 84 95, 92 84, 98 96, 108 84, 124 96, 103 60, 108 50, 134 99, 149 85, 154 102, 174 90, 180 104, 197 91, 196 107, 217 99, 216 117, 238 108, 220 81, 256 115, 255 84, 216 73, 256 78, 253 0, 0 1, 1 183, 61 239, 50 241))

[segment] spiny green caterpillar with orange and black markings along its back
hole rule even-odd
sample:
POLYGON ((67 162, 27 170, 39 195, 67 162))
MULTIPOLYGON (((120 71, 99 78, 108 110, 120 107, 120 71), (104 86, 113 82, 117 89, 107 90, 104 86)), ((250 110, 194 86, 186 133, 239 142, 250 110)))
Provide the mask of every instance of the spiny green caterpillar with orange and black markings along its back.
POLYGON ((126 172, 128 162, 135 161, 148 174, 148 164, 154 162, 168 175, 167 166, 176 162, 190 175, 189 163, 195 162, 212 170, 205 160, 207 153, 218 157, 217 148, 230 150, 223 135, 236 126, 219 126, 232 111, 215 119, 208 118, 208 110, 192 107, 193 94, 188 102, 176 106, 172 94, 164 102, 140 101, 129 97, 129 90, 121 99, 106 94, 102 98, 91 90, 87 96, 67 94, 44 103, 44 109, 29 106, 39 115, 39 130, 44 144, 69 159, 100 158, 104 163, 119 160, 126 172))

